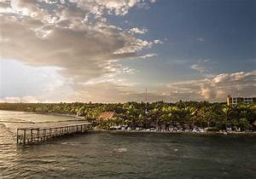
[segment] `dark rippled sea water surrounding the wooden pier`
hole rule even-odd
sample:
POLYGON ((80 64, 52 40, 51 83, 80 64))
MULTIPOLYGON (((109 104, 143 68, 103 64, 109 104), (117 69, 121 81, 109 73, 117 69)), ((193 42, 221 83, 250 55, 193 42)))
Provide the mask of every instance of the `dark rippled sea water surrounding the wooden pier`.
POLYGON ((70 119, 0 111, 0 178, 256 178, 253 136, 89 132, 15 143, 17 127, 35 125, 27 122, 76 123, 70 119))

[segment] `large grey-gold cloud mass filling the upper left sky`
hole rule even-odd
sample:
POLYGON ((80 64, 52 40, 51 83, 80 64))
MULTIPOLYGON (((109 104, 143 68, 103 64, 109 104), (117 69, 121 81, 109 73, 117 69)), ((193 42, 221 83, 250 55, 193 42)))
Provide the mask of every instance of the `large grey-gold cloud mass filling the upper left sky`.
POLYGON ((140 1, 69 3, 73 5, 67 1, 5 1, 2 7, 11 11, 0 14, 2 58, 30 66, 56 66, 63 77, 81 82, 121 71, 122 66, 113 68, 113 62, 145 56, 139 52, 155 44, 104 20, 105 10, 125 14, 140 1), (49 3, 49 8, 42 3, 49 3))

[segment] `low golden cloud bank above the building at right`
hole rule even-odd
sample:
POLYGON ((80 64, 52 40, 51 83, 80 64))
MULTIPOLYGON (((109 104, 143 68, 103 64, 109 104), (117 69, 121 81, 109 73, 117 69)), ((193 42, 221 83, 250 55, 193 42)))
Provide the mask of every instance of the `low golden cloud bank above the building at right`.
POLYGON ((185 100, 224 101, 227 95, 237 95, 239 85, 243 96, 255 96, 256 71, 221 73, 211 78, 168 84, 172 92, 185 100))

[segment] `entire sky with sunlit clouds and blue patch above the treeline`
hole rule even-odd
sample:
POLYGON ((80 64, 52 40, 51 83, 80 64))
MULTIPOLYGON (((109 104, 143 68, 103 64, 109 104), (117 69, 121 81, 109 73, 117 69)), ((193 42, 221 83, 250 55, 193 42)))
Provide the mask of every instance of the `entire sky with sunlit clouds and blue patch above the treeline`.
POLYGON ((1 102, 256 95, 255 0, 0 0, 1 102))

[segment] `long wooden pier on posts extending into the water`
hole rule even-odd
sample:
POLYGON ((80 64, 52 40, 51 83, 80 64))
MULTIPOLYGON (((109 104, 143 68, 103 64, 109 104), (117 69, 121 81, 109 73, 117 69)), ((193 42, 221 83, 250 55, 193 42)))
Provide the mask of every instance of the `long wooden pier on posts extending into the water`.
POLYGON ((72 124, 53 128, 20 128, 17 129, 17 143, 28 144, 48 141, 57 136, 67 136, 75 133, 83 133, 92 129, 91 123, 72 124))

